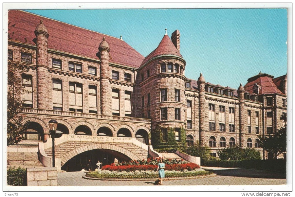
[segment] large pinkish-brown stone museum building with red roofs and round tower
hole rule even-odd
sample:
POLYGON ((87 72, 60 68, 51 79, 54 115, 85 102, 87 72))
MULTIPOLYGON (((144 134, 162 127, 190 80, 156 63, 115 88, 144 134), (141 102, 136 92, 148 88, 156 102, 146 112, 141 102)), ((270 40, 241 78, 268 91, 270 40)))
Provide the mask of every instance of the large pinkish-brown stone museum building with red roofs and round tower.
POLYGON ((145 158, 143 145, 153 145, 155 132, 165 142, 168 128, 174 129, 176 141, 184 137, 189 146, 207 145, 215 157, 216 150, 233 145, 260 150, 257 135, 285 126, 280 117, 286 114, 286 75, 259 73, 237 89, 213 85, 202 74, 188 79, 178 30, 171 38, 166 32, 143 57, 122 37, 25 11, 9 11, 8 28, 8 61, 29 68, 15 75, 26 90, 21 114, 27 130, 25 140, 9 147, 11 155, 22 152, 21 146, 39 146, 35 152, 44 165, 46 154, 52 154, 51 119, 63 133, 56 139, 61 167, 95 149, 103 154, 90 154, 91 159, 145 158))

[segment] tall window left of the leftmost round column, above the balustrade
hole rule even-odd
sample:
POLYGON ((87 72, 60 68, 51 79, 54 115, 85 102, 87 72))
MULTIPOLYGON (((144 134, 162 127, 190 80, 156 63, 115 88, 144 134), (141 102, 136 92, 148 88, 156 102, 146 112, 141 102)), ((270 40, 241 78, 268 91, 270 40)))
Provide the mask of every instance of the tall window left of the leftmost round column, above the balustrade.
POLYGON ((22 92, 23 107, 33 107, 33 83, 31 75, 22 74, 22 88, 24 89, 22 92))

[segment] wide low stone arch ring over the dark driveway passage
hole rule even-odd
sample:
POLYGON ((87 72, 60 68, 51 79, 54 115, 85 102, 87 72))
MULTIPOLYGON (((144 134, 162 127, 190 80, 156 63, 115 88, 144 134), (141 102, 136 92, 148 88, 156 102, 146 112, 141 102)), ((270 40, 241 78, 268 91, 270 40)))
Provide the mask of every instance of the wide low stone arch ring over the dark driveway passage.
POLYGON ((70 160, 71 158, 73 158, 74 156, 86 152, 88 150, 93 150, 93 149, 108 149, 108 150, 114 150, 117 151, 119 153, 122 153, 124 155, 126 155, 127 157, 129 157, 131 160, 138 160, 140 159, 137 155, 135 155, 134 153, 132 153, 130 150, 127 150, 125 148, 116 146, 116 145, 112 145, 112 144, 87 144, 84 146, 80 146, 78 148, 75 148, 73 150, 70 150, 69 152, 63 154, 60 157, 61 160, 61 165, 63 166, 68 160, 70 160))

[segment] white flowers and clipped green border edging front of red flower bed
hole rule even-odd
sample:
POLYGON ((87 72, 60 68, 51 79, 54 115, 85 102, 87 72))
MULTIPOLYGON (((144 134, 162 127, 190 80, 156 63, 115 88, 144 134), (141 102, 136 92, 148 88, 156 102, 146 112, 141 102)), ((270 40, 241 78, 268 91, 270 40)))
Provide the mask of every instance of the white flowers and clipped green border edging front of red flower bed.
MULTIPOLYGON (((195 176, 204 176, 210 175, 213 172, 205 171, 203 169, 194 169, 192 171, 183 170, 183 171, 176 171, 176 170, 165 170, 165 178, 174 178, 174 177, 195 177, 195 176)), ((99 170, 99 171, 92 171, 88 172, 85 175, 89 178, 113 178, 113 179, 130 179, 130 178, 158 178, 158 172, 153 170, 147 171, 109 171, 109 170, 99 170)))

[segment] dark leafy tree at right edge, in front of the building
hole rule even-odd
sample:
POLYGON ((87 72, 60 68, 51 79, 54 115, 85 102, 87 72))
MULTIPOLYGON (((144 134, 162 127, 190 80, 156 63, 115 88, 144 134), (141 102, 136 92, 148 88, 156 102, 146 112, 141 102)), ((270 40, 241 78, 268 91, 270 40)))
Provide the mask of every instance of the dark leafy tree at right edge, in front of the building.
POLYGON ((283 114, 281 120, 285 122, 285 128, 281 128, 274 135, 258 136, 260 142, 259 145, 263 150, 273 155, 274 159, 278 158, 278 155, 286 152, 287 147, 287 116, 283 114))

